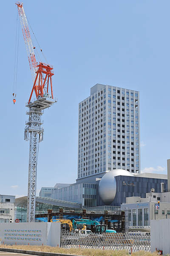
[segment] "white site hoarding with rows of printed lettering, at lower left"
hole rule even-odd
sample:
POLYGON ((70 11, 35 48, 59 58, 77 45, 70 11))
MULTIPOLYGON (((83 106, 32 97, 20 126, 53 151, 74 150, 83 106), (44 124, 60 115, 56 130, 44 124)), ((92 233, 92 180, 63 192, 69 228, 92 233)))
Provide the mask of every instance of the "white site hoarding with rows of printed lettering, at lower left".
POLYGON ((4 244, 60 246, 60 222, 0 223, 4 244))

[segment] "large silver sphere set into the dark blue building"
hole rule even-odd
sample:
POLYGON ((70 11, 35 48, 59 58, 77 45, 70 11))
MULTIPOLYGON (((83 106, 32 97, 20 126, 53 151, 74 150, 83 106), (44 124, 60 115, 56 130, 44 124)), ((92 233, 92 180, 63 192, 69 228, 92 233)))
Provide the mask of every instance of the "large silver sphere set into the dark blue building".
POLYGON ((116 180, 115 176, 134 176, 131 172, 123 169, 114 169, 107 172, 99 183, 99 196, 103 203, 109 205, 113 202, 116 195, 116 180))

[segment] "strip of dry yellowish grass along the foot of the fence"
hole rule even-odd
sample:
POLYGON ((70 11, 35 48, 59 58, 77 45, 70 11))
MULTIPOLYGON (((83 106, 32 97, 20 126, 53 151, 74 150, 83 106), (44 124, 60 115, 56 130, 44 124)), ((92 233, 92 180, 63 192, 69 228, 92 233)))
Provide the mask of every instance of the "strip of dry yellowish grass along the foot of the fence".
MULTIPOLYGON (((48 253, 65 253, 73 255, 83 255, 83 256, 125 256, 129 255, 127 250, 95 250, 95 249, 81 249, 81 248, 60 248, 60 247, 51 247, 51 246, 38 246, 38 245, 8 245, 2 244, 0 248, 11 248, 11 249, 20 249, 20 250, 33 250, 41 251, 48 253)), ((144 251, 139 251, 132 254, 133 256, 157 256, 158 254, 149 253, 144 251)))

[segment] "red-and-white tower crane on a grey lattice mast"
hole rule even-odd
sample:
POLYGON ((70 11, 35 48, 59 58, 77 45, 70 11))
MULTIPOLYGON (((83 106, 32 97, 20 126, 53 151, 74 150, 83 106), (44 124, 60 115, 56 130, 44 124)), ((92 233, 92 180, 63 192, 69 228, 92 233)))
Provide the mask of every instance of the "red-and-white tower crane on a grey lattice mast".
MULTIPOLYGON (((20 17, 23 38, 26 44, 29 66, 33 80, 31 95, 26 107, 29 116, 26 121, 24 140, 29 140, 29 166, 28 166, 28 201, 27 201, 27 222, 35 221, 35 201, 37 183, 37 157, 39 143, 43 140, 44 129, 41 127, 41 116, 45 108, 49 108, 55 102, 52 90, 53 67, 42 62, 37 63, 31 35, 29 32, 26 14, 23 3, 17 2, 17 9, 20 17), (36 99, 32 100, 33 92, 36 99)), ((42 50, 41 50, 42 51, 42 50)))

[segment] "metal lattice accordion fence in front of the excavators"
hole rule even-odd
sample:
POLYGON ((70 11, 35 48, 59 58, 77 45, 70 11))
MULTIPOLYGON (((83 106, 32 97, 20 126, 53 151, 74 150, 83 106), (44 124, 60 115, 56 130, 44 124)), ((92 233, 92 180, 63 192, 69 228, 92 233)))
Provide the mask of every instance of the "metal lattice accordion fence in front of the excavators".
POLYGON ((70 233, 62 231, 61 247, 150 251, 150 233, 70 233))

